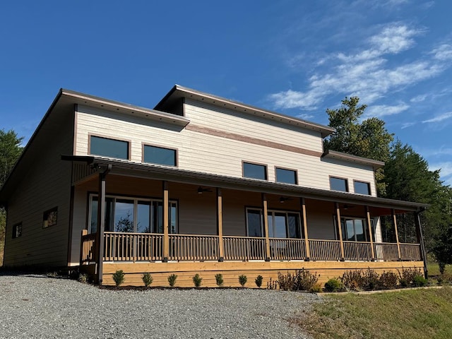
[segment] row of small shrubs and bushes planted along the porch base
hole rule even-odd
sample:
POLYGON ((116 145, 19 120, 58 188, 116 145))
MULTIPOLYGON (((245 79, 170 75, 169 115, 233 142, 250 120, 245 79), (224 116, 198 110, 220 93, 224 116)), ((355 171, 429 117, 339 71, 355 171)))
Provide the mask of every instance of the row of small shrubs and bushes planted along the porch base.
MULTIPOLYGON (((120 286, 124 283, 125 274, 123 270, 117 270, 113 273, 115 285, 120 286)), ((145 287, 153 283, 153 277, 150 273, 144 273, 141 277, 145 287)), ((83 281, 83 276, 79 278, 83 281)), ((167 278, 168 284, 174 287, 177 280, 176 274, 171 274, 167 278)), ((248 281, 246 275, 238 276, 239 284, 244 287, 248 281)), ((192 277, 195 287, 201 287, 203 278, 196 273, 192 277)), ((85 282, 85 281, 83 281, 85 282)), ((224 283, 221 273, 215 275, 216 284, 221 287, 224 283)), ((257 287, 263 283, 262 275, 258 275, 254 280, 257 287)), ((307 292, 343 292, 343 291, 365 291, 365 290, 392 290, 398 287, 420 287, 427 285, 428 281, 422 275, 420 269, 402 268, 398 274, 394 272, 376 273, 375 270, 347 270, 341 277, 328 280, 324 289, 319 284, 319 275, 310 273, 309 270, 297 270, 295 273, 283 274, 278 272, 278 280, 272 280, 267 283, 269 290, 287 290, 287 291, 307 291, 307 292)))

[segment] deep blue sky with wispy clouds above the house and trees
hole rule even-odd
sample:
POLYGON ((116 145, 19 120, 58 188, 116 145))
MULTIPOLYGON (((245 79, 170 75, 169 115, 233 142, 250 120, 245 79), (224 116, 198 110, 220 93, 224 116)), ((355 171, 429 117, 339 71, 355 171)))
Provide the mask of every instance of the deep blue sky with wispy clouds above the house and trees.
POLYGON ((154 107, 178 83, 328 124, 357 95, 452 184, 450 1, 3 1, 0 129, 59 88, 154 107))

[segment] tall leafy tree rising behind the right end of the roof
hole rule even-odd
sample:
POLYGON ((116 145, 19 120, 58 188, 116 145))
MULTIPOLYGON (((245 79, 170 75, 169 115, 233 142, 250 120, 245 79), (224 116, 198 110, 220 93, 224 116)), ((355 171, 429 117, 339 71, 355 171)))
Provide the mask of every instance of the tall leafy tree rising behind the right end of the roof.
MULTIPOLYGON (((330 123, 335 132, 323 143, 326 150, 368 157, 386 161, 389 157, 393 134, 385 128, 385 122, 376 117, 359 122, 367 105, 358 105, 359 97, 345 97, 338 109, 326 109, 330 123)), ((386 194, 383 182, 384 171, 377 169, 375 173, 376 189, 379 196, 386 194)))

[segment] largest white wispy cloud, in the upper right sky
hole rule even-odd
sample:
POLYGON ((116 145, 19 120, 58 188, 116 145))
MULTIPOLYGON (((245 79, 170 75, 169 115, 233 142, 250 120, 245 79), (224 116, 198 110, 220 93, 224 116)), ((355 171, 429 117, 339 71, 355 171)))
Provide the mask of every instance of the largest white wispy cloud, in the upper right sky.
MULTIPOLYGON (((352 54, 335 52, 324 57, 323 63, 316 65, 318 71, 308 79, 307 90, 281 91, 270 95, 269 99, 276 108, 283 109, 316 109, 332 94, 357 95, 362 102, 371 104, 391 91, 437 76, 449 66, 446 60, 451 50, 446 44, 400 66, 392 66, 386 59, 386 56, 412 48, 416 44, 415 37, 423 32, 421 28, 410 28, 403 23, 388 24, 369 37, 367 48, 352 54)), ((396 106, 383 115, 397 114, 398 109, 402 112, 408 107, 396 106)))

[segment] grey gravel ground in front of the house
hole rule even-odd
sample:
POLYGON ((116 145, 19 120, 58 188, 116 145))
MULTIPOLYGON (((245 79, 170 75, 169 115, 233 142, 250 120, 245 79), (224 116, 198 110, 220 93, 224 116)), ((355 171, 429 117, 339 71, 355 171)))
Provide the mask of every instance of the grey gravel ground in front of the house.
POLYGON ((320 298, 251 289, 107 290, 0 275, 0 338, 307 338, 289 319, 320 298))

